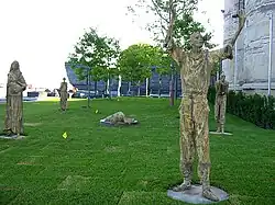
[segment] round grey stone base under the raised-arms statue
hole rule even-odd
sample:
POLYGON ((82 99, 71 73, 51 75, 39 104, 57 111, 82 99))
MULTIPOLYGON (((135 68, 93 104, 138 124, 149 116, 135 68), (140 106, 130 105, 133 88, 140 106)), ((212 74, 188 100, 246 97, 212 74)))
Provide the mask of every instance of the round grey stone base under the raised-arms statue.
MULTIPOLYGON (((211 186, 211 191, 216 196, 219 197, 219 202, 226 201, 229 198, 229 194, 218 187, 211 186)), ((202 186, 201 185, 191 185, 190 190, 184 192, 174 192, 173 190, 167 191, 167 195, 173 200, 190 203, 190 204, 212 204, 217 203, 210 201, 202 196, 202 186)))

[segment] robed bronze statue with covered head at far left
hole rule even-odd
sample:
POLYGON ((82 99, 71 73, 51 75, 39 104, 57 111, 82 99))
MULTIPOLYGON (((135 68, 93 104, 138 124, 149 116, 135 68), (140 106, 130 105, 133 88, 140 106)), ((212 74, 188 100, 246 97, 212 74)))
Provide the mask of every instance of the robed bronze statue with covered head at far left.
POLYGON ((7 83, 7 106, 4 119, 6 135, 22 135, 23 129, 23 91, 26 89, 25 79, 20 71, 18 61, 11 64, 7 83))

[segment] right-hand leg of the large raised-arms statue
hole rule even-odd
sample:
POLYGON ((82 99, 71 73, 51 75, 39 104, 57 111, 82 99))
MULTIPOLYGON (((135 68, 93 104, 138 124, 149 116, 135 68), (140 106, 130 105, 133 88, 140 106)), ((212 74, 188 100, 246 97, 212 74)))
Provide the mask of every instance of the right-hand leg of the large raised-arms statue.
POLYGON ((209 155, 209 127, 208 127, 209 107, 204 98, 198 98, 195 103, 195 137, 196 148, 199 158, 199 176, 202 184, 202 196, 219 201, 210 190, 210 155, 209 155))

